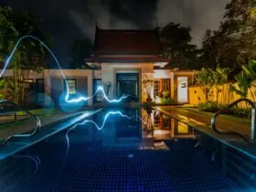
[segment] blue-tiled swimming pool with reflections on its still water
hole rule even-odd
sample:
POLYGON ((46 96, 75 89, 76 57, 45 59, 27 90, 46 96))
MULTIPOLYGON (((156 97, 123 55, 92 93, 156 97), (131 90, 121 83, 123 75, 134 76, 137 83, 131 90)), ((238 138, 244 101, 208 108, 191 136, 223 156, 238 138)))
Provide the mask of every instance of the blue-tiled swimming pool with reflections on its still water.
POLYGON ((161 112, 102 110, 0 162, 0 191, 235 191, 211 141, 161 112), (99 127, 98 127, 99 128, 99 127), (198 142, 200 141, 200 142, 198 142), (210 148, 208 150, 208 148, 210 148))

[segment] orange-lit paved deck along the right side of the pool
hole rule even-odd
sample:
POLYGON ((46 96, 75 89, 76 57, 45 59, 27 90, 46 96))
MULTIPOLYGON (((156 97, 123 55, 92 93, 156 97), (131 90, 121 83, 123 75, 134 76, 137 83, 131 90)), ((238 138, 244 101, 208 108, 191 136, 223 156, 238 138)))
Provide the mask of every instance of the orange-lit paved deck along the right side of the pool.
MULTIPOLYGON (((213 137, 223 144, 227 144, 233 147, 245 155, 249 155, 252 159, 256 160, 256 144, 246 144, 240 137, 233 135, 224 135, 214 132, 210 125, 211 117, 204 113, 189 112, 182 108, 174 106, 158 106, 153 109, 163 112, 172 118, 186 123, 187 125, 195 128, 201 133, 206 133, 208 136, 213 137)), ((249 136, 251 133, 251 125, 243 123, 242 119, 240 122, 231 121, 226 117, 219 116, 218 128, 222 131, 233 131, 243 135, 249 136)))

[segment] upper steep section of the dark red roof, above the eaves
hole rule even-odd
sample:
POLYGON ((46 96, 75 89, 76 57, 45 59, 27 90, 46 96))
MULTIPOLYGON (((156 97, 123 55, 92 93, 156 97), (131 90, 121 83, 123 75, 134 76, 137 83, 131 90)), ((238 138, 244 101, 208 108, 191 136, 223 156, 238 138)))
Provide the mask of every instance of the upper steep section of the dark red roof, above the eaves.
POLYGON ((157 54, 158 30, 103 30, 96 28, 95 54, 157 54))

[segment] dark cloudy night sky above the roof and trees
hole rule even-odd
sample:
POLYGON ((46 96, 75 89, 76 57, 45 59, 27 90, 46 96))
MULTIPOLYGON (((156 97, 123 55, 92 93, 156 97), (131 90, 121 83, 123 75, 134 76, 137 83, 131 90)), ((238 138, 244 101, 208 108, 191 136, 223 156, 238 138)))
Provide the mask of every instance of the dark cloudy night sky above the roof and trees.
POLYGON ((32 12, 53 38, 53 50, 62 65, 69 45, 94 37, 95 23, 105 29, 152 29, 169 22, 192 28, 200 46, 206 29, 216 29, 229 0, 1 0, 0 5, 32 12))

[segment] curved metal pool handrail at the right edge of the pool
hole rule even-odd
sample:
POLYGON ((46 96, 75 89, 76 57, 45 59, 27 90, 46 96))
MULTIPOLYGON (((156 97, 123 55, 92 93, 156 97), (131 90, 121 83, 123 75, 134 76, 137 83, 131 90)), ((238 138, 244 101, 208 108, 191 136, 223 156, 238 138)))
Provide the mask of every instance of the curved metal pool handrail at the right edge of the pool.
POLYGON ((231 104, 229 104, 226 108, 224 108, 223 110, 220 110, 219 112, 217 112, 216 114, 214 114, 211 118, 211 125, 212 128, 215 132, 219 133, 219 134, 232 134, 232 135, 237 135, 240 136, 246 143, 249 144, 254 144, 256 143, 256 105, 253 101, 249 100, 249 99, 239 99, 237 101, 232 102, 231 104), (236 132, 221 132, 218 130, 217 126, 216 126, 216 118, 222 114, 224 111, 226 111, 227 109, 233 107, 234 105, 238 104, 240 101, 246 101, 251 105, 251 138, 248 139, 245 136, 243 136, 240 133, 236 133, 236 132))

